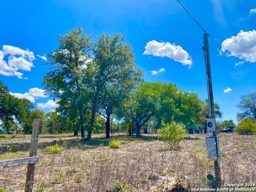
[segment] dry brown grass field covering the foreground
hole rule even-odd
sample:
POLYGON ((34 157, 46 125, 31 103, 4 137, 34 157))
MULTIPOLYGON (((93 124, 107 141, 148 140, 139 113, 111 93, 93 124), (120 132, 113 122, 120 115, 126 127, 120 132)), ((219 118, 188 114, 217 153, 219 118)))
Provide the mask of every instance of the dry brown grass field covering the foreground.
MULTIPOLYGON (((256 136, 218 136, 223 183, 256 183, 256 136)), ((116 134, 112 138, 122 141, 120 148, 108 147, 104 135, 94 135, 84 143, 68 134, 40 135, 33 192, 106 192, 116 182, 127 183, 128 192, 162 192, 177 183, 208 188, 206 175, 214 175, 203 134, 187 135, 176 151, 167 150, 156 134, 139 139, 116 134), (50 154, 46 146, 56 143, 64 146, 64 151, 50 154), (149 179, 152 170, 174 180, 149 179)), ((30 136, 0 140, 0 160, 26 157, 29 147, 30 136), (13 146, 12 152, 7 146, 13 146)), ((23 192, 25 178, 26 166, 0 169, 0 188, 23 192)))

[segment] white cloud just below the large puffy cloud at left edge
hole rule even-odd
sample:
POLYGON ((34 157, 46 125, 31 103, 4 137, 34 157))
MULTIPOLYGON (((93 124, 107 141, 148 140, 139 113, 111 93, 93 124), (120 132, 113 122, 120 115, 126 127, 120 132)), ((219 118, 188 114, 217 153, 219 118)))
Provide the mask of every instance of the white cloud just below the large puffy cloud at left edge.
POLYGON ((44 90, 39 88, 30 88, 28 92, 25 92, 23 94, 22 93, 11 93, 11 94, 18 98, 26 98, 30 100, 30 102, 32 103, 35 102, 35 99, 47 97, 46 95, 44 95, 44 90))

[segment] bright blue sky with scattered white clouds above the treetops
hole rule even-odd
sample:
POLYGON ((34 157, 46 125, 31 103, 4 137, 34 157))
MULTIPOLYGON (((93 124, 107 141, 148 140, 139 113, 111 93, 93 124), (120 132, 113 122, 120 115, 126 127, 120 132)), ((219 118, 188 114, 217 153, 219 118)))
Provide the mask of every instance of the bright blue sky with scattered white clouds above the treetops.
MULTIPOLYGON (((214 102, 236 122, 242 94, 255 92, 256 0, 180 0, 211 35, 214 102), (224 91, 226 90, 226 91, 224 91)), ((176 0, 8 0, 0 2, 0 80, 43 110, 55 106, 42 90, 44 54, 58 34, 125 34, 147 81, 173 82, 207 98, 204 32, 176 0)))

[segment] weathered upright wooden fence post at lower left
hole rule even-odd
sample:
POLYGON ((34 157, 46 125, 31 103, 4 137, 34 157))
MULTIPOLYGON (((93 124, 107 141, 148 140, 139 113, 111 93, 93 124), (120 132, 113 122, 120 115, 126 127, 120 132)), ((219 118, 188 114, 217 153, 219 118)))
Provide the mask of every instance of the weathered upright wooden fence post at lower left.
MULTIPOLYGON (((32 138, 31 138, 31 142, 30 142, 29 157, 36 156, 36 150, 37 150, 37 145, 38 145, 38 137, 39 137, 41 123, 42 123, 41 119, 34 119, 32 138)), ((32 192, 35 165, 36 165, 35 163, 28 165, 25 192, 32 192)))

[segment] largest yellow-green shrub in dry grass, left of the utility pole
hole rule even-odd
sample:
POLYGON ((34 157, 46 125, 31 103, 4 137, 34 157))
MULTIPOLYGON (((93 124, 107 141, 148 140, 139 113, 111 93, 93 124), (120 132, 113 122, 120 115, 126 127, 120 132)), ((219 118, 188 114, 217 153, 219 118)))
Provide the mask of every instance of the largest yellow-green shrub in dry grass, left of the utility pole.
POLYGON ((170 149, 176 149, 184 136, 186 130, 184 125, 172 121, 168 124, 163 124, 164 128, 159 129, 159 138, 161 138, 170 149))

